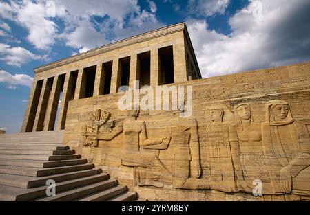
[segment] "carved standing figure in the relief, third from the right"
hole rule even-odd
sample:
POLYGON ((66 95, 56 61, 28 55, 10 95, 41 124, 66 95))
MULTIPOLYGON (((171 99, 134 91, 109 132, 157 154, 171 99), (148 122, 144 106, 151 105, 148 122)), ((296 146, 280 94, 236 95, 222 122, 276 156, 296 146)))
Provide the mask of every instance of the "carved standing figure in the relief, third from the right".
POLYGON ((233 192, 236 190, 236 185, 228 137, 229 126, 223 123, 222 106, 212 105, 207 109, 207 115, 211 119, 206 128, 210 188, 233 192))

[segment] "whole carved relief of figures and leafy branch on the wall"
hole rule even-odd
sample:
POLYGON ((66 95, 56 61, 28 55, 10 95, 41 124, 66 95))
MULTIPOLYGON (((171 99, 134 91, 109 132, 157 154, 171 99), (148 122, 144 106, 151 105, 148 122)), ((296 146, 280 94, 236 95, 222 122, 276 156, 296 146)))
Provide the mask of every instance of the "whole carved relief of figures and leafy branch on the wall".
POLYGON ((196 119, 179 117, 180 110, 172 112, 174 119, 156 139, 147 137, 139 109, 128 111, 123 120, 94 111, 83 126, 83 145, 95 147, 122 133, 121 165, 134 168, 139 186, 252 193, 253 181, 259 179, 263 194, 293 192, 293 179, 310 165, 310 136, 307 124, 293 118, 288 102, 267 102, 262 123, 254 122, 247 103, 234 106, 234 123, 223 122, 222 105, 206 110, 207 158, 200 155, 196 119), (171 170, 160 157, 163 150, 171 152, 171 170), (209 170, 203 178, 201 159, 207 159, 209 170))

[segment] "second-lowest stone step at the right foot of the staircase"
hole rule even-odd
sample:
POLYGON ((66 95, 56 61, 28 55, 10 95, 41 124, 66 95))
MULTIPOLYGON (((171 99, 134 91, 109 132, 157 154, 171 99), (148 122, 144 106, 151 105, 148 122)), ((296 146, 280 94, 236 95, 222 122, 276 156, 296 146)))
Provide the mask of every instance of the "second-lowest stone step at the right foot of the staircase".
POLYGON ((113 187, 107 188, 103 191, 90 194, 88 196, 79 199, 78 201, 106 201, 107 199, 112 199, 114 196, 123 194, 127 190, 127 187, 113 187))

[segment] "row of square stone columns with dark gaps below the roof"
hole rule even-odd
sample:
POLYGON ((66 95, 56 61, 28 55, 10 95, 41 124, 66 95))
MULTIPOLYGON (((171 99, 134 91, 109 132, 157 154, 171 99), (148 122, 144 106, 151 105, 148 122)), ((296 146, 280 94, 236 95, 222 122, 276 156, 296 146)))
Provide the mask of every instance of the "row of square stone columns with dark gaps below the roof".
POLYGON ((43 79, 34 77, 21 132, 63 130, 70 100, 116 93, 118 87, 124 83, 122 76, 126 72, 127 83, 131 89, 134 89, 134 80, 140 80, 142 73, 145 72, 141 68, 143 59, 140 56, 146 56, 149 60, 148 69, 146 69, 149 77, 146 79, 147 85, 151 87, 185 82, 188 79, 185 47, 181 43, 160 49, 153 48, 142 54, 132 53, 130 56, 118 56, 100 61, 95 65, 81 66, 64 73, 57 73, 52 77, 43 79), (126 67, 128 71, 124 71, 123 59, 125 58, 129 65, 129 69, 128 66, 126 67), (166 62, 169 59, 172 66, 168 69, 172 71, 167 71, 165 68, 165 65, 169 65, 166 62), (161 63, 161 60, 166 61, 161 63), (171 75, 167 80, 165 76, 169 72, 171 75))

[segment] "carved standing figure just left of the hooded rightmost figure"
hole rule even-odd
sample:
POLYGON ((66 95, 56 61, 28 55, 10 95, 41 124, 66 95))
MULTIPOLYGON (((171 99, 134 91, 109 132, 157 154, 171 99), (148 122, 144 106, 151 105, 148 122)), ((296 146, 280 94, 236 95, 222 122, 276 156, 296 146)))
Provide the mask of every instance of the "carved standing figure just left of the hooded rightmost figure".
POLYGON ((252 192, 255 179, 260 179, 268 189, 270 179, 262 150, 260 124, 253 121, 249 104, 236 105, 234 115, 236 124, 229 128, 229 142, 237 189, 252 192))

